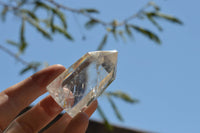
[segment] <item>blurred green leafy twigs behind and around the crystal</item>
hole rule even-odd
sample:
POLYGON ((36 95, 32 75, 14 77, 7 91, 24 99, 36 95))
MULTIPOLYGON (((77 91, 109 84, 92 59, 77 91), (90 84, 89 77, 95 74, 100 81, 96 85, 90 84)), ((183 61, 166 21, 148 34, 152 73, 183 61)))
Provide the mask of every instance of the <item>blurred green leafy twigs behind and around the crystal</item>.
MULTIPOLYGON (((163 28, 160 26, 158 19, 163 19, 168 22, 183 24, 178 18, 173 17, 169 14, 162 13, 160 7, 153 2, 147 3, 141 10, 132 14, 130 17, 127 17, 123 21, 119 22, 118 20, 113 20, 111 22, 105 22, 100 20, 95 16, 100 12, 92 8, 84 9, 74 9, 60 4, 54 0, 10 0, 2 2, 0 0, 0 10, 1 10, 1 20, 6 21, 7 14, 12 14, 18 17, 21 21, 19 26, 20 34, 19 40, 7 40, 7 44, 15 46, 18 49, 17 54, 14 54, 12 51, 6 48, 7 45, 0 45, 0 49, 10 54, 16 58, 19 62, 24 64, 24 68, 21 70, 20 74, 24 74, 29 70, 37 71, 38 68, 43 65, 41 62, 26 62, 20 58, 20 54, 23 54, 29 45, 29 41, 26 39, 26 27, 31 26, 36 29, 36 31, 41 34, 47 40, 53 40, 55 33, 63 35, 66 39, 73 41, 74 37, 68 31, 68 24, 66 19, 66 12, 80 14, 85 16, 88 21, 85 22, 85 28, 90 30, 97 25, 101 25, 105 30, 105 34, 102 35, 103 38, 100 44, 97 47, 97 50, 104 49, 108 39, 114 37, 116 40, 126 41, 126 38, 134 38, 134 35, 138 32, 144 37, 147 37, 156 44, 161 44, 161 40, 158 35, 156 35, 152 30, 143 27, 142 25, 135 25, 134 20, 139 19, 141 21, 151 22, 159 31, 162 31, 163 28), (45 12, 47 15, 44 17, 40 15, 40 12, 45 12), (59 21, 60 23, 56 23, 59 21)), ((113 98, 120 98, 128 103, 136 103, 137 100, 132 99, 129 95, 124 92, 106 92, 106 97, 110 102, 117 118, 122 121, 123 118, 117 109, 116 104, 114 103, 113 98)), ((102 116, 105 124, 109 129, 111 129, 108 120, 99 106, 98 111, 102 116)))

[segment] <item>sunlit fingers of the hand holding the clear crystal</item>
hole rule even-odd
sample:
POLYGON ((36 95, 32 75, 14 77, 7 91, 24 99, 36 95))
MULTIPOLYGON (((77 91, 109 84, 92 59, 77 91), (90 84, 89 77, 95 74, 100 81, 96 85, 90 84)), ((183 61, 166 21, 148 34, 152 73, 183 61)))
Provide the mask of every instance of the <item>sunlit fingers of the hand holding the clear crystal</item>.
MULTIPOLYGON (((47 96, 29 111, 16 116, 37 97, 46 92, 46 86, 65 68, 53 65, 41 70, 26 80, 9 87, 0 93, 0 133, 35 133, 44 128, 61 111, 62 108, 47 96)), ((45 130, 45 133, 84 133, 89 117, 97 108, 94 101, 83 112, 71 118, 65 113, 55 124, 45 130)))

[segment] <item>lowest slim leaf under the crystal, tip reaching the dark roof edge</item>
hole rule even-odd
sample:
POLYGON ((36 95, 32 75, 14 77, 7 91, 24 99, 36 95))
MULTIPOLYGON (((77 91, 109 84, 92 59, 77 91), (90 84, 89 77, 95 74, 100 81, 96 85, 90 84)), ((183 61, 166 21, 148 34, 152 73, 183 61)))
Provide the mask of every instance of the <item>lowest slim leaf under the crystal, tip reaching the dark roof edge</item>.
POLYGON ((108 129, 109 131, 112 131, 113 130, 113 127, 112 125, 110 125, 106 115, 104 114, 103 110, 101 109, 100 105, 98 105, 97 107, 97 111, 99 112, 99 115, 101 116, 101 118, 103 119, 104 121, 104 125, 106 127, 106 129, 108 129))

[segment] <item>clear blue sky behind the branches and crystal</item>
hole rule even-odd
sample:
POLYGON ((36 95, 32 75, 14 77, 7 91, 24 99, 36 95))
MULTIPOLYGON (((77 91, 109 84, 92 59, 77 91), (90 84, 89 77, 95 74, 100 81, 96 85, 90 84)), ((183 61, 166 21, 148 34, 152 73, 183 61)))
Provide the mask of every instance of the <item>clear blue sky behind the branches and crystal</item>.
MULTIPOLYGON (((69 6, 95 7, 101 11, 97 17, 105 21, 116 18, 122 20, 131 13, 138 11, 148 1, 99 1, 66 0, 69 6)), ((106 50, 119 51, 116 80, 108 87, 109 90, 123 90, 140 100, 131 105, 116 99, 117 106, 125 119, 119 122, 108 102, 99 98, 111 123, 129 128, 155 131, 161 133, 199 133, 200 132, 200 36, 199 36, 199 4, 197 0, 155 0, 161 11, 180 18, 183 26, 161 22, 163 32, 158 32, 150 23, 137 21, 144 27, 157 33, 162 45, 156 45, 140 34, 135 34, 135 40, 116 42, 108 40, 106 50)), ((69 13, 68 13, 69 14, 69 13)), ((80 23, 84 17, 78 17, 80 23)), ((56 35, 54 41, 43 39, 32 28, 27 28, 27 39, 31 42, 24 59, 27 61, 46 61, 49 64, 63 64, 68 67, 83 54, 97 48, 104 30, 98 26, 94 30, 83 32, 87 39, 81 40, 80 28, 74 18, 69 15, 69 31, 76 41, 70 42, 56 35)), ((18 39, 17 18, 10 17, 6 23, 0 23, 0 43, 5 40, 18 39)), ((13 47, 8 47, 15 51, 13 47)), ((12 57, 0 51, 1 90, 25 79, 32 73, 23 76, 19 70, 23 67, 12 57)), ((99 120, 98 113, 92 119, 99 120)))

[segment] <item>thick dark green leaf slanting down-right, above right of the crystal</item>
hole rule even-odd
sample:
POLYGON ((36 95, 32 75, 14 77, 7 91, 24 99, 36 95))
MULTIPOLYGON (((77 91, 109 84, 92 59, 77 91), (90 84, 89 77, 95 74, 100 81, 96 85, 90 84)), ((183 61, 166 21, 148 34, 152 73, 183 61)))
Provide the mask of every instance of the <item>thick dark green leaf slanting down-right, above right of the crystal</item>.
POLYGON ((159 37, 156 34, 154 34, 153 32, 151 32, 147 29, 144 29, 142 27, 139 27, 139 26, 135 26, 135 25, 129 25, 129 26, 132 27, 134 30, 138 31, 139 33, 143 34, 144 36, 148 37, 152 41, 154 41, 158 44, 161 44, 159 37))

